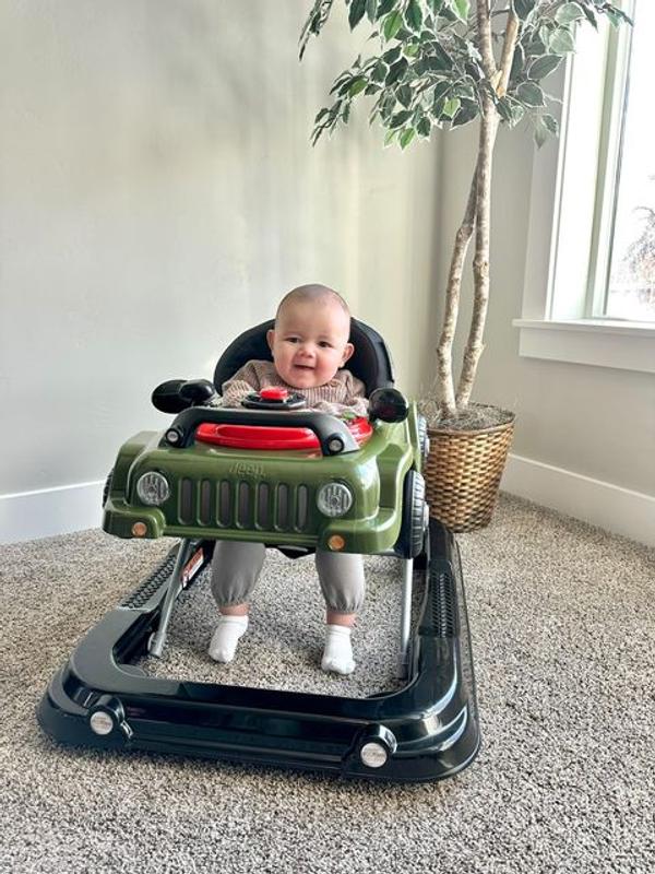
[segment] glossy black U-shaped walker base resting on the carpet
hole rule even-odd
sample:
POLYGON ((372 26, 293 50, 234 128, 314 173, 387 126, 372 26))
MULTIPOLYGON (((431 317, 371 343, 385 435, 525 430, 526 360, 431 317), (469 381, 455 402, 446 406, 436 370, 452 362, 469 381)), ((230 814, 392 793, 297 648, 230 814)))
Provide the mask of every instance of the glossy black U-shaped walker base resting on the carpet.
MULTIPOLYGON (((200 571, 213 543, 201 541, 200 571)), ((432 520, 426 594, 406 685, 369 698, 180 682, 143 674, 176 551, 82 640, 38 708, 49 735, 103 749, 143 749, 426 781, 475 758, 479 727, 466 604, 454 538, 432 520)), ((152 648, 151 648, 152 651, 152 648)))

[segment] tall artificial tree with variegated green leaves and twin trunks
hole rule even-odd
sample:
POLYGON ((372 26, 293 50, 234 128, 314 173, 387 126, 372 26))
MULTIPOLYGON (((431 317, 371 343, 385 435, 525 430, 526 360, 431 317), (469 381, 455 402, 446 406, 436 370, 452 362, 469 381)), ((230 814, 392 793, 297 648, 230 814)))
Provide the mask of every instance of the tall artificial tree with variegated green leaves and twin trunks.
MULTIPOLYGON (((576 28, 597 28, 603 17, 629 21, 605 0, 344 0, 350 29, 368 22, 377 54, 362 58, 334 82, 332 106, 319 111, 313 143, 347 123, 355 101, 371 99, 370 121, 386 130, 385 144, 406 149, 434 128, 458 128, 479 119, 478 149, 445 286, 444 319, 437 346, 432 397, 424 404, 431 424, 469 422, 471 393, 484 349, 489 300, 491 166, 500 123, 523 119, 537 144, 558 133, 548 111, 553 101, 543 82, 575 47, 576 28), (474 300, 461 371, 455 383, 453 340, 469 243, 474 300)), ((334 0, 315 0, 300 37, 300 57, 319 35, 334 0)), ((491 424, 485 420, 483 425, 491 424)))

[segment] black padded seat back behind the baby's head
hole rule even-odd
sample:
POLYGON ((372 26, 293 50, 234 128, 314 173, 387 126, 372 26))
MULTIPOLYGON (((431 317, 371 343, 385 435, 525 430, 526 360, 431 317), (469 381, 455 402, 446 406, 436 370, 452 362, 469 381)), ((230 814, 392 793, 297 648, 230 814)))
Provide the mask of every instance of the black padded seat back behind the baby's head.
MULTIPOLYGON (((266 342, 266 332, 274 327, 275 320, 269 319, 243 331, 229 344, 214 370, 214 385, 219 394, 223 383, 230 379, 239 367, 251 361, 273 361, 266 342)), ((374 389, 391 388, 394 383, 393 365, 386 344, 380 334, 362 321, 353 319, 350 343, 355 346, 355 352, 346 363, 346 367, 353 376, 361 379, 366 386, 367 397, 374 389)))

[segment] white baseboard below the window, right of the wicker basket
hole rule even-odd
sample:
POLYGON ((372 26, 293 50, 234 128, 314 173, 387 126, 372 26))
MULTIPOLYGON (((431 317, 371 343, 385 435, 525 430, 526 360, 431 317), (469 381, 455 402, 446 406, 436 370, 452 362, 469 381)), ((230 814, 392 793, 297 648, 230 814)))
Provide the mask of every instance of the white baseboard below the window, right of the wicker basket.
POLYGON ((655 497, 510 454, 501 488, 615 534, 655 546, 655 497))

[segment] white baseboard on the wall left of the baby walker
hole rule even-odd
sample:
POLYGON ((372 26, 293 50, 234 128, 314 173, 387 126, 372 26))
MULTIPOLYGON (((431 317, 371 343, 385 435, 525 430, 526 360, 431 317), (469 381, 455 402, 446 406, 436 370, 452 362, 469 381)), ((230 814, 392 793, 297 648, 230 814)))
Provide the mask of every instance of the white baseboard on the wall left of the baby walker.
POLYGON ((0 495, 0 543, 98 528, 104 481, 0 495))

